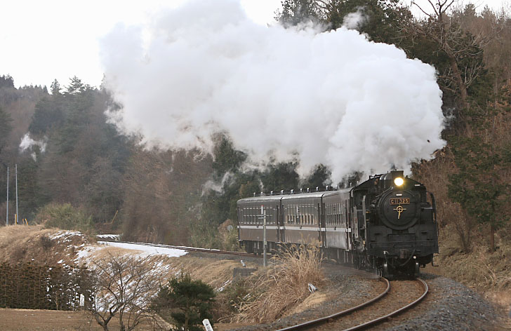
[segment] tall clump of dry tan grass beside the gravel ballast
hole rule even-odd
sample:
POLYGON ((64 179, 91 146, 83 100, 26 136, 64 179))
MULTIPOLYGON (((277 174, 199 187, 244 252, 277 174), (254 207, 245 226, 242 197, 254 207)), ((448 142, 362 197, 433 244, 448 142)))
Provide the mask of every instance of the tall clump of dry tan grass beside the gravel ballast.
POLYGON ((233 322, 268 323, 282 316, 310 295, 308 283, 324 283, 320 262, 317 246, 292 247, 277 257, 274 266, 255 280, 251 295, 237 306, 233 322))

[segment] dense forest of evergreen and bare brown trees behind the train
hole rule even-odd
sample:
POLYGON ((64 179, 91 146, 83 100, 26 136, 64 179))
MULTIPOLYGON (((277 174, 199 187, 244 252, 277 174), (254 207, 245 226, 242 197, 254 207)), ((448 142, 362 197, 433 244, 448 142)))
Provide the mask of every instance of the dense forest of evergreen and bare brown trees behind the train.
MULTIPOLYGON (((371 41, 395 44, 437 69, 447 145, 432 161, 414 163, 412 176, 437 196, 441 240, 454 243, 453 252, 470 252, 477 238, 496 250, 511 241, 511 18, 504 10, 449 4, 417 7, 423 15, 416 18, 394 0, 285 0, 276 18, 284 26, 314 22, 326 31, 358 11, 365 19, 357 29, 371 41)), ((49 90, 15 88, 14 80, 0 76, 0 172, 10 171, 8 179, 0 176, 0 189, 5 192, 8 180, 10 224, 15 165, 19 217, 29 223, 60 213, 84 231, 216 248, 225 244, 220 224, 236 222, 238 198, 343 184, 332 183, 321 164, 305 178, 298 161, 247 168, 247 155, 225 133, 214 137, 212 155, 150 149, 107 121, 105 110, 121 105, 106 88, 76 76, 62 86, 55 80, 49 90)), ((0 215, 6 215, 5 199, 0 215)))

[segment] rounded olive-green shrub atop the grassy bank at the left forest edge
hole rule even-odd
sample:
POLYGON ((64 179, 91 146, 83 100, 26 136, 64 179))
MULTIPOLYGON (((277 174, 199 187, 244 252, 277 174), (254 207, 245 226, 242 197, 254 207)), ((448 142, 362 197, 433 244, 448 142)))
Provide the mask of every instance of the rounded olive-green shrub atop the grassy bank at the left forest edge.
POLYGON ((87 216, 69 203, 51 203, 40 208, 36 215, 36 223, 44 224, 46 229, 56 227, 81 231, 85 234, 91 234, 94 231, 92 216, 87 216))

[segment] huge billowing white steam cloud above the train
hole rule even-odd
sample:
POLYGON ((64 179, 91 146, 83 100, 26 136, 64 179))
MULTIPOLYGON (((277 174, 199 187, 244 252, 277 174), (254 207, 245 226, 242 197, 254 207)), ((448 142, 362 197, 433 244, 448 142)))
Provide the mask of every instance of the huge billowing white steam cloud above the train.
POLYGON ((110 120, 171 149, 226 132, 251 161, 298 157, 333 180, 431 158, 444 146, 434 68, 357 31, 265 27, 237 0, 190 1, 102 41, 110 120), (143 36, 143 37, 142 37, 143 36), (149 38, 147 38, 149 36, 149 38))

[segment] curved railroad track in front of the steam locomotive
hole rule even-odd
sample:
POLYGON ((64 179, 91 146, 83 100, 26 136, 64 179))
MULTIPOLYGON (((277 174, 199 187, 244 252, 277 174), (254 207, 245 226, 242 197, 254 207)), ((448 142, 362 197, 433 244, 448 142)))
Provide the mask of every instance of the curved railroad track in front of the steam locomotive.
MULTIPOLYGON (((284 327, 278 331, 291 330, 343 330, 354 331, 364 330, 366 328, 385 322, 389 318, 397 316, 399 313, 411 309, 418 304, 427 295, 427 284, 422 279, 416 281, 396 281, 393 282, 394 288, 391 290, 390 282, 385 278, 382 281, 387 283, 387 288, 377 297, 370 299, 363 304, 354 306, 350 309, 333 313, 329 316, 309 320, 305 323, 284 327), (413 283, 415 285, 413 285, 413 283), (406 298, 406 292, 417 285, 422 288, 418 297, 412 300, 406 298), (341 317, 345 318, 341 318, 341 317), (376 317, 377 316, 377 317, 376 317)), ((412 290, 413 292, 413 290, 412 290)), ((418 292, 418 291, 415 291, 418 292)))

